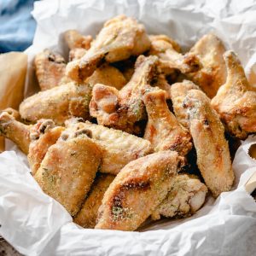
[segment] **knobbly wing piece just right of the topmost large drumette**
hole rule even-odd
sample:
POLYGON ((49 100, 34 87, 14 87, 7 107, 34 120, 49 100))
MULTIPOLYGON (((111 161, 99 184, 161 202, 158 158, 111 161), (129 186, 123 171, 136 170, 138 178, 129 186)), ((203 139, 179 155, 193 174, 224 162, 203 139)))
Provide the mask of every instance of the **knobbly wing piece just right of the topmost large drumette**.
POLYGON ((150 36, 151 48, 149 55, 157 55, 160 59, 160 69, 169 75, 178 69, 181 73, 195 72, 200 67, 200 61, 193 53, 182 55, 180 47, 166 35, 150 36))

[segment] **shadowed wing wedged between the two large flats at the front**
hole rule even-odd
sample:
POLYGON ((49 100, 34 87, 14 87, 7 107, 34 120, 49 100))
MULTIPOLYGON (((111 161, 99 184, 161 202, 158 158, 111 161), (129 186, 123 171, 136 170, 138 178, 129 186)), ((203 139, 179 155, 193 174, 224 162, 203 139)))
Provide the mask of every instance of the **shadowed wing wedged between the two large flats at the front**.
POLYGON ((96 177, 91 186, 90 192, 84 205, 73 218, 73 222, 79 224, 83 228, 93 229, 96 225, 96 218, 99 207, 102 205, 102 198, 108 189, 110 183, 113 182, 115 176, 110 174, 100 174, 96 177))

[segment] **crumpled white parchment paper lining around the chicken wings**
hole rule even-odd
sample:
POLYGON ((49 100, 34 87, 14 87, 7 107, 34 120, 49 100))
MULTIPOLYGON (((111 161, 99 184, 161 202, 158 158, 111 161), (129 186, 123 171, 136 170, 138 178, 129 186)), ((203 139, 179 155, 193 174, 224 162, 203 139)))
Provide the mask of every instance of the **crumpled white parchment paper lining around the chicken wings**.
MULTIPOLYGON (((78 29, 93 36, 114 15, 137 17, 148 33, 166 33, 184 49, 214 32, 234 49, 254 78, 256 5, 253 1, 94 0, 36 2, 38 22, 29 58, 25 96, 36 91, 33 56, 44 48, 67 57, 62 33, 78 29)), ((253 79, 250 80, 253 82, 253 79)), ((236 183, 214 201, 211 196, 190 218, 162 220, 140 232, 85 230, 73 224, 61 205, 44 195, 29 173, 26 157, 16 147, 0 154, 0 234, 26 255, 255 255, 256 204, 246 191, 256 173, 249 137, 236 153, 236 183)))

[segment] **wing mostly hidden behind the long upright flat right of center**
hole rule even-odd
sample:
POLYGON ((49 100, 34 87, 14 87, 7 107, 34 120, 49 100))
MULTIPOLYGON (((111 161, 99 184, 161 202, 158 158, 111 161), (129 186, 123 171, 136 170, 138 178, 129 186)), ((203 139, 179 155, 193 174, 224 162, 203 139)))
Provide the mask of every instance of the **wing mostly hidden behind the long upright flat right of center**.
POLYGON ((177 120, 187 129, 189 129, 189 114, 186 108, 183 108, 183 100, 189 90, 199 90, 199 87, 189 80, 183 80, 182 83, 172 84, 170 94, 172 107, 177 120))

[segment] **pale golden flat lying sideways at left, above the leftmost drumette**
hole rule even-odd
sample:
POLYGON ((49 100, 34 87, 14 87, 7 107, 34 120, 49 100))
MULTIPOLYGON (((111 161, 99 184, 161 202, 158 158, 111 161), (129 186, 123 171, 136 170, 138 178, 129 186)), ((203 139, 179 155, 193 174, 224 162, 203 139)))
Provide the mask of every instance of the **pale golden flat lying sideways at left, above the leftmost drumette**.
POLYGON ((20 104, 20 116, 32 123, 52 119, 56 125, 72 116, 89 119, 90 97, 90 84, 62 84, 26 98, 20 104))

